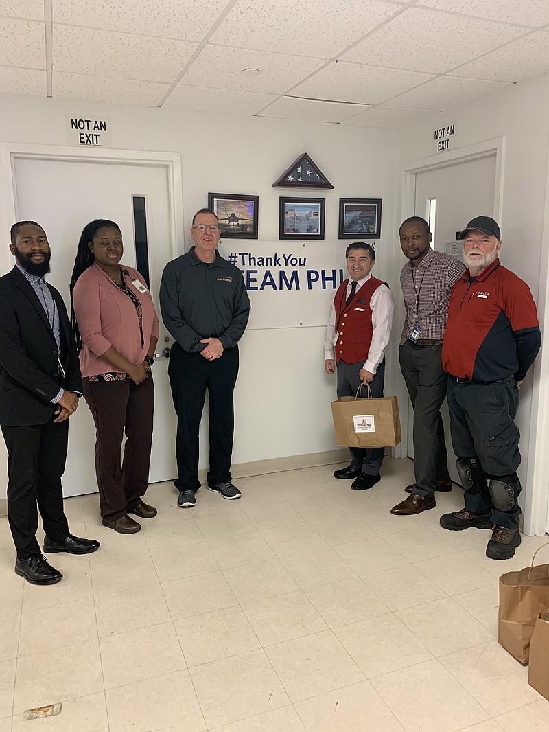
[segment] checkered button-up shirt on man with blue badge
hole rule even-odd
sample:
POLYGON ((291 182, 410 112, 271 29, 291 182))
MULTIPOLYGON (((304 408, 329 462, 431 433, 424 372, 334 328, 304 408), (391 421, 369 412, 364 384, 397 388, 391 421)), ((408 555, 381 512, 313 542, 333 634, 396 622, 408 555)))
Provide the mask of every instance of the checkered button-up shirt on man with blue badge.
POLYGON ((400 272, 400 285, 406 307, 406 320, 400 346, 417 325, 420 339, 442 340, 448 318, 448 303, 452 287, 465 272, 465 266, 455 257, 431 248, 416 266, 408 261, 400 272))

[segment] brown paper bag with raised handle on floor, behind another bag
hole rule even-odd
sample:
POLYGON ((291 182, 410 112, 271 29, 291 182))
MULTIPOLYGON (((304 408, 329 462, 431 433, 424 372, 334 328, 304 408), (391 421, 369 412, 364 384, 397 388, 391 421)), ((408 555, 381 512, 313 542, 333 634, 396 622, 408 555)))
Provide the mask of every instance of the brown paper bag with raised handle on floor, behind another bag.
POLYGON ((537 552, 530 567, 499 578, 498 641, 523 664, 539 613, 549 610, 549 564, 534 567, 537 552))

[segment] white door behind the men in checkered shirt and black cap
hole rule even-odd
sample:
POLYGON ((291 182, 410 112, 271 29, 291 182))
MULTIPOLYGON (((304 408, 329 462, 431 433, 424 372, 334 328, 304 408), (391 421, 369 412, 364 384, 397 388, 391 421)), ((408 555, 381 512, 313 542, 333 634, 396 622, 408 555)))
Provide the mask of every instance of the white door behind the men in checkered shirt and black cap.
MULTIPOLYGON (((496 155, 455 163, 433 171, 417 173, 415 215, 430 223, 434 232, 433 245, 438 252, 444 252, 444 242, 454 242, 458 231, 475 216, 494 215, 494 194, 496 184, 496 155), (433 206, 431 201, 436 201, 433 206), (434 210, 434 222, 433 218, 434 210)), ((450 426, 447 403, 441 409, 444 433, 448 451, 450 476, 460 482, 455 468, 455 455, 450 440, 450 426)), ((408 410, 408 457, 414 457, 414 440, 408 410)))

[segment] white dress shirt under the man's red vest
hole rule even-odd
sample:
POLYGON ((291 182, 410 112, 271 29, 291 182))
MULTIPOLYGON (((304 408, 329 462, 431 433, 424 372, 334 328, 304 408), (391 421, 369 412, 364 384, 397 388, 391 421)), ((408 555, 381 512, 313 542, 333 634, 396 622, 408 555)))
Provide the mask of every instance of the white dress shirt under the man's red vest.
MULTIPOLYGON (((362 280, 356 280, 356 291, 364 285, 371 277, 367 275, 362 280)), ((347 284, 346 297, 351 292, 353 280, 349 279, 347 284)), ((378 365, 381 364, 385 354, 385 348, 391 337, 392 318, 395 315, 395 300, 386 285, 379 285, 374 294, 370 297, 370 309, 372 310, 372 342, 368 357, 362 366, 365 371, 376 373, 378 365)), ((334 337, 335 337, 335 305, 332 299, 332 314, 326 327, 326 341, 324 343, 324 359, 335 360, 334 337)))

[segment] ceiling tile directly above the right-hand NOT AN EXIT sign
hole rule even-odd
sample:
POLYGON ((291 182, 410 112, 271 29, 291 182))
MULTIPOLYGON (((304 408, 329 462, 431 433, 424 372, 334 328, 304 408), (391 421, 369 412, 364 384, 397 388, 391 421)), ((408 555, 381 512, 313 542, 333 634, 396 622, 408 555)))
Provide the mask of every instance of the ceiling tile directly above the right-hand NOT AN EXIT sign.
POLYGON ((395 107, 432 109, 441 111, 454 104, 470 102, 493 91, 510 86, 500 81, 481 81, 458 76, 439 76, 413 91, 407 91, 391 100, 395 107))

